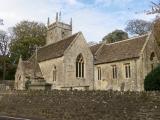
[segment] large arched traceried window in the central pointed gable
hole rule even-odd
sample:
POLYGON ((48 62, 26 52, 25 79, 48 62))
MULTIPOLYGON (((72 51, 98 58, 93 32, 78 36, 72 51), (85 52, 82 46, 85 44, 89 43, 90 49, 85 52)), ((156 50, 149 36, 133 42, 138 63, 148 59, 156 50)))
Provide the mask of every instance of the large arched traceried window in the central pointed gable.
POLYGON ((84 78, 84 60, 82 54, 76 59, 76 77, 84 78))

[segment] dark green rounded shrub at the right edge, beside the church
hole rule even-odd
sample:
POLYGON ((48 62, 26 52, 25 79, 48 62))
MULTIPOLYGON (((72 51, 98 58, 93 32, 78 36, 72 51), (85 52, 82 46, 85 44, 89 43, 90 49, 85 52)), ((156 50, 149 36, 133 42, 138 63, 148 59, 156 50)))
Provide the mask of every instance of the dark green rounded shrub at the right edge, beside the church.
POLYGON ((160 90, 160 65, 146 76, 144 89, 147 91, 160 90))

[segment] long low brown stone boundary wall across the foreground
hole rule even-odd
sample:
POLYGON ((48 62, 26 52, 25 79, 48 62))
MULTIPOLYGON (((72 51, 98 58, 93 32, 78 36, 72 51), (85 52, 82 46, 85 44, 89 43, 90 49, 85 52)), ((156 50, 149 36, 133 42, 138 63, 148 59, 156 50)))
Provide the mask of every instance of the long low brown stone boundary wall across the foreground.
POLYGON ((0 92, 0 115, 39 120, 159 120, 160 92, 0 92))

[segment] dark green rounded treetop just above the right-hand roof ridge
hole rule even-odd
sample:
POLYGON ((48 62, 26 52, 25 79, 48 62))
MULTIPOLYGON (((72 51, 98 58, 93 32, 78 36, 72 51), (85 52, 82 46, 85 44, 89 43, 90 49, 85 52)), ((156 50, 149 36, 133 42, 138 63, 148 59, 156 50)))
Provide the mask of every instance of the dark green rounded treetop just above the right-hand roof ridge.
POLYGON ((125 39, 128 39, 128 33, 124 32, 123 30, 115 30, 109 33, 108 35, 104 36, 102 41, 106 43, 113 43, 125 39))

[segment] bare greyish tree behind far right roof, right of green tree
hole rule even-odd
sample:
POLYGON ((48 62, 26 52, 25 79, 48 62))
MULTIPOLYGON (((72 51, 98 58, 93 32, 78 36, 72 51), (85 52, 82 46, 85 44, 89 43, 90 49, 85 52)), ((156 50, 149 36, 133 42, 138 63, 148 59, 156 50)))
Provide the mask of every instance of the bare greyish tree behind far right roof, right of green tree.
POLYGON ((151 30, 151 22, 145 20, 129 20, 125 31, 132 35, 143 35, 146 34, 148 31, 151 30))

